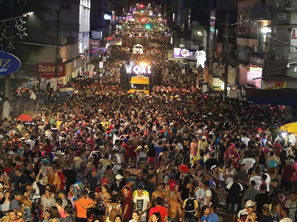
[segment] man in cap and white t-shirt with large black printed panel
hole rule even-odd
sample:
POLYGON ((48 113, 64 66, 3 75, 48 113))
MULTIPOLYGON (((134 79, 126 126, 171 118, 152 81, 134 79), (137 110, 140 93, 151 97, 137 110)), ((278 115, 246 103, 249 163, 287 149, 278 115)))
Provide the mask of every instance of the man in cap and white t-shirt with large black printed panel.
POLYGON ((134 197, 134 210, 137 210, 141 215, 141 221, 146 221, 146 211, 151 208, 149 197, 143 194, 144 187, 139 185, 137 187, 137 195, 134 197))

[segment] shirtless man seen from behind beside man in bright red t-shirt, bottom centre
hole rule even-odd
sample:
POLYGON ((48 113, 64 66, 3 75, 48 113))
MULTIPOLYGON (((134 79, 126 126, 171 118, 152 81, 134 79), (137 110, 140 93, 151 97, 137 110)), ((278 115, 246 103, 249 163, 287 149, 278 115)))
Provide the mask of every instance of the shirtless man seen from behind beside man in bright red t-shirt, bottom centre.
POLYGON ((166 194, 166 198, 168 201, 168 206, 169 206, 169 210, 168 210, 168 221, 171 222, 178 222, 176 219, 176 212, 178 211, 179 214, 179 221, 183 220, 183 216, 182 216, 182 210, 181 210, 181 204, 177 201, 178 200, 178 196, 176 192, 173 192, 171 194, 171 197, 169 197, 169 190, 170 187, 168 184, 165 185, 165 194, 166 194))

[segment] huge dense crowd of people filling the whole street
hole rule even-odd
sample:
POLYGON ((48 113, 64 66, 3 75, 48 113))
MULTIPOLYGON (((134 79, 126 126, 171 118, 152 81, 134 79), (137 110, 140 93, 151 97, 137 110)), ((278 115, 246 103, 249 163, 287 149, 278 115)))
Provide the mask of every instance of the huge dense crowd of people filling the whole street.
POLYGON ((15 112, 37 117, 0 122, 1 221, 296 221, 297 143, 280 129, 296 110, 202 93, 192 68, 168 61, 170 36, 141 24, 117 30, 103 68, 89 59, 94 76, 64 86, 74 94, 12 92, 15 112), (132 54, 141 32, 146 53, 132 54), (162 70, 150 94, 121 88, 120 68, 140 61, 162 70))

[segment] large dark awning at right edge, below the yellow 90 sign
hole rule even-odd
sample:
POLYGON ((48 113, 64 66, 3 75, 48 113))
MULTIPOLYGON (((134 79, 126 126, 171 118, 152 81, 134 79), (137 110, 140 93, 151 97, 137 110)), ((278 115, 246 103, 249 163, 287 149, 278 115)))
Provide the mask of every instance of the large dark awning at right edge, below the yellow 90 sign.
POLYGON ((297 89, 267 89, 247 95, 247 100, 255 103, 297 107, 297 89))

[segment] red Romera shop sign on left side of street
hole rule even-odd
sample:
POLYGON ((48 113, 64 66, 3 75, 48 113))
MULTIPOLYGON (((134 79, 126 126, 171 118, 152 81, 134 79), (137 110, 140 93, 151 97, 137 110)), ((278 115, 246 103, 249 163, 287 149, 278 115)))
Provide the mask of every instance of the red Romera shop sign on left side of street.
MULTIPOLYGON (((38 63, 36 66, 36 74, 40 77, 52 78, 55 77, 56 64, 53 62, 38 63)), ((65 76, 65 65, 58 67, 58 77, 65 76)))

